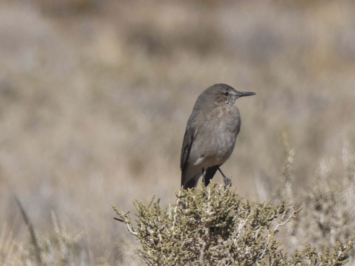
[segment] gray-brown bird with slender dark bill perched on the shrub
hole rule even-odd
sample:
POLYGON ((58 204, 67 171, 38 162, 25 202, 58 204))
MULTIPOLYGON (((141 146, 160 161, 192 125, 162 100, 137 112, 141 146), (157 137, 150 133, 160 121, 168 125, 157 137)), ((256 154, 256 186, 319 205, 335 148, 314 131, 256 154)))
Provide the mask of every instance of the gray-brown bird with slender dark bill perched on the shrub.
POLYGON ((198 96, 187 121, 181 148, 181 185, 184 189, 196 187, 201 175, 207 186, 217 170, 226 182, 228 178, 219 167, 232 154, 240 129, 235 100, 255 94, 215 84, 198 96))

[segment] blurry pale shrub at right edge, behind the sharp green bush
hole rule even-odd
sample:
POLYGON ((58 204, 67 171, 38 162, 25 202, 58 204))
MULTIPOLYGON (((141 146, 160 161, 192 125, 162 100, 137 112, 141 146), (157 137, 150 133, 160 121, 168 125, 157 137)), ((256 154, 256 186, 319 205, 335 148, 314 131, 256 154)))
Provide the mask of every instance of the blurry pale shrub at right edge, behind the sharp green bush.
MULTIPOLYGON (((291 150, 283 173, 283 188, 278 193, 276 200, 285 198, 299 202, 304 210, 293 220, 292 227, 287 227, 288 235, 295 238, 293 245, 310 243, 317 249, 327 249, 337 242, 345 242, 354 234, 355 228, 355 153, 349 147, 343 149, 344 173, 334 174, 332 161, 320 164, 315 182, 310 190, 293 196, 293 173, 290 170, 294 152, 291 150), (286 192, 286 193, 285 193, 286 192)), ((338 172, 337 172, 338 173, 338 172)), ((284 234, 285 235, 285 234, 284 234)), ((283 240, 287 241, 285 236, 283 240)), ((292 241, 288 241, 292 242, 292 241)), ((353 257, 354 250, 349 252, 353 257)))

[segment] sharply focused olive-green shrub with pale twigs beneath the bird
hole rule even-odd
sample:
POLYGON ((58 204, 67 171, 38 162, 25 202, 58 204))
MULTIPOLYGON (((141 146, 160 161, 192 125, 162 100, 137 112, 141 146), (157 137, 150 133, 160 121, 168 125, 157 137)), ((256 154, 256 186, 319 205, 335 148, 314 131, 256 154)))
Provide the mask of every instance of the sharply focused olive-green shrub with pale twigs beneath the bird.
POLYGON ((338 242, 323 254, 310 245, 289 255, 274 240, 279 228, 302 209, 291 204, 242 200, 235 190, 212 183, 181 189, 176 204, 135 201, 137 226, 113 205, 119 221, 141 243, 147 265, 344 265, 353 246, 338 242))

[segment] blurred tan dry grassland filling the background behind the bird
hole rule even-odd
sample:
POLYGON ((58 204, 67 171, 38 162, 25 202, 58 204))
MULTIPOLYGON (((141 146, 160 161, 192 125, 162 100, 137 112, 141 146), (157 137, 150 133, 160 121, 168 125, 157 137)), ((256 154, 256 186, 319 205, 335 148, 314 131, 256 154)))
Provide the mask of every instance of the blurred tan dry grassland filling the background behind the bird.
POLYGON ((236 102, 223 166, 237 192, 274 195, 285 139, 297 195, 321 164, 340 180, 355 146, 354 13, 352 0, 0 1, 2 248, 30 245, 16 194, 38 234, 53 233, 53 210, 83 232, 88 265, 122 261, 131 239, 110 203, 175 201, 186 122, 215 83, 257 93, 236 102))

